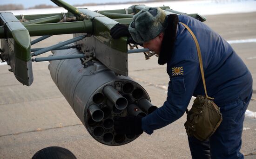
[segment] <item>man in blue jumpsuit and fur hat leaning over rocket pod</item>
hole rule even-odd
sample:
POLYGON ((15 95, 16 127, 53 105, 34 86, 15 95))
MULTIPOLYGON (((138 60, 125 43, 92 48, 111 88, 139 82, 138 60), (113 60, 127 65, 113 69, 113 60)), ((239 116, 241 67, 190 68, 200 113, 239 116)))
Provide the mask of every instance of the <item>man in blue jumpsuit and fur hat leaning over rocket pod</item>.
MULTIPOLYGON (((195 41, 180 22, 188 25, 198 40, 208 95, 222 113, 222 123, 209 140, 188 137, 192 158, 243 159, 239 151, 244 113, 252 95, 249 70, 232 47, 207 25, 186 15, 166 16, 160 8, 141 10, 128 29, 135 42, 159 55, 158 64, 167 64, 167 100, 146 117, 116 117, 115 130, 120 134, 152 134, 179 119, 192 95, 205 95, 195 41)), ((121 30, 123 25, 114 26, 112 37, 123 36, 121 30)))

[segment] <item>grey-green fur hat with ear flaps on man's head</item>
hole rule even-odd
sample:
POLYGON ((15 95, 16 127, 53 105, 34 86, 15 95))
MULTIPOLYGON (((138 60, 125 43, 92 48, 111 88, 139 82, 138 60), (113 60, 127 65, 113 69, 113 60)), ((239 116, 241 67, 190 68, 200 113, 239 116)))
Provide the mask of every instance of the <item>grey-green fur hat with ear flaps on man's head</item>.
POLYGON ((129 32, 135 42, 148 42, 165 29, 166 21, 166 14, 161 8, 144 8, 133 17, 133 21, 129 25, 129 32))

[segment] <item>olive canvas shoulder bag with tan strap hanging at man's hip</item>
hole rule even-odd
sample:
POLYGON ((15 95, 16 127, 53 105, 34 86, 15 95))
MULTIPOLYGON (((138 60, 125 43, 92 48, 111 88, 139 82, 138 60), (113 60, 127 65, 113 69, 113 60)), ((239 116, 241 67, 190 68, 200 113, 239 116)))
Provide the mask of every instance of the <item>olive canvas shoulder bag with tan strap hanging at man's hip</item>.
POLYGON ((187 121, 184 126, 188 136, 194 136, 196 139, 203 141, 207 140, 212 134, 214 134, 216 129, 219 127, 222 122, 222 114, 220 112, 220 108, 213 102, 213 98, 207 95, 202 55, 195 34, 187 25, 184 23, 181 24, 186 27, 195 41, 205 92, 205 95, 198 95, 195 98, 192 108, 189 111, 187 109, 187 121))

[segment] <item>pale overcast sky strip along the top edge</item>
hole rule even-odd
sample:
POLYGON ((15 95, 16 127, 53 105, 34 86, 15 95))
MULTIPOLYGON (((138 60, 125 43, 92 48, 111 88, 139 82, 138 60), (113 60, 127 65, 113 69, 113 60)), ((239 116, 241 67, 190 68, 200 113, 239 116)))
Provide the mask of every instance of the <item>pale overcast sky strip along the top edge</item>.
MULTIPOLYGON (((108 3, 108 2, 124 2, 131 0, 64 0, 65 2, 74 5, 74 4, 83 4, 83 3, 108 3)), ((132 0, 135 1, 135 0, 132 0)), ((25 8, 32 7, 39 4, 47 4, 55 6, 51 0, 0 0, 0 5, 5 4, 22 4, 25 8)))

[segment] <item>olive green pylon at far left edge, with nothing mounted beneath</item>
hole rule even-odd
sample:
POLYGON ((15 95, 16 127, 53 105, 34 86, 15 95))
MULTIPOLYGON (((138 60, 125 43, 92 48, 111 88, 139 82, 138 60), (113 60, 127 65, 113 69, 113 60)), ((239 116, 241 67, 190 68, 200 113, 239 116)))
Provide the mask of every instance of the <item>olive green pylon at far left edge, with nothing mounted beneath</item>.
POLYGON ((1 39, 2 57, 11 66, 17 80, 30 86, 33 72, 29 32, 13 13, 0 13, 0 23, 5 30, 5 38, 1 39))

